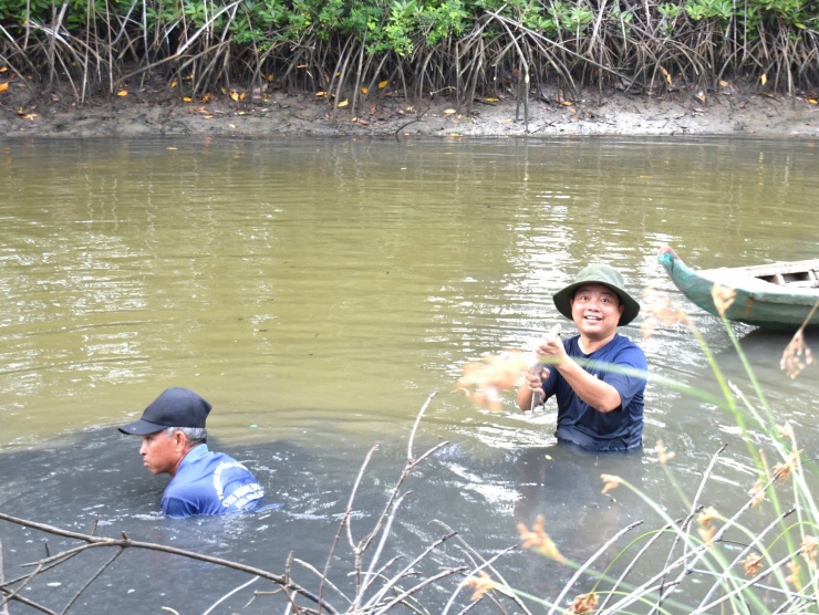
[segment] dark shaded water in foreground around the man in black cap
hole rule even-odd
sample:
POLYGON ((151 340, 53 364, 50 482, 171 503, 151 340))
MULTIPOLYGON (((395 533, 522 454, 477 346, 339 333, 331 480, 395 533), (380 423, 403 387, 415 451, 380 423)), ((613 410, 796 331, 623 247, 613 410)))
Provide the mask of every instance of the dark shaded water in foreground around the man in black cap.
MULTIPOLYGON (((218 440, 211 448, 224 450, 218 440)), ((266 487, 269 505, 263 511, 229 518, 163 518, 158 502, 167 477, 145 472, 135 439, 112 434, 111 428, 73 434, 44 448, 2 454, 0 467, 7 488, 0 510, 80 533, 91 533, 96 524, 96 535, 121 538, 124 533, 134 541, 196 551, 276 574, 284 574, 291 552, 323 570, 350 499, 355 468, 366 451, 328 446, 321 454, 312 454, 290 442, 269 442, 227 452, 246 462, 266 487)), ((354 500, 351 525, 355 540, 375 522, 406 455, 405 442, 387 440, 373 456, 354 500)), ((383 561, 401 557, 393 566, 397 570, 452 528, 458 532, 457 541, 438 548, 416 567, 431 575, 444 569, 463 567, 466 572, 471 566, 467 544, 480 556, 491 557, 515 548, 517 521, 531 525, 539 514, 549 519, 549 531, 557 536, 582 535, 584 546, 571 555, 584 559, 607 534, 641 512, 632 502, 601 494, 601 472, 639 477, 641 456, 603 458, 562 446, 515 451, 477 450, 477 445, 469 442, 445 446, 407 481, 409 496, 390 530, 383 561)), ((0 522, 0 539, 7 581, 23 574, 20 564, 80 544, 8 522, 0 522)), ((60 611, 111 555, 112 549, 86 551, 38 575, 23 595, 60 611)), ((348 593, 352 592, 348 574, 353 570, 352 561, 343 536, 329 577, 348 593)), ((541 595, 553 595, 570 572, 520 550, 502 555, 496 565, 514 586, 541 595)), ((93 615, 168 607, 204 613, 250 578, 212 564, 131 549, 84 591, 72 612, 93 615)), ((317 575, 303 566, 293 565, 293 580, 318 592, 317 575)), ((431 588, 423 597, 427 607, 443 607, 456 593, 456 604, 463 608, 471 592, 459 587, 462 581, 462 575, 455 575, 431 588)), ((273 590, 271 583, 258 581, 219 604, 214 613, 269 613, 273 604, 283 606, 281 595, 259 596, 248 603, 253 591, 273 590)))

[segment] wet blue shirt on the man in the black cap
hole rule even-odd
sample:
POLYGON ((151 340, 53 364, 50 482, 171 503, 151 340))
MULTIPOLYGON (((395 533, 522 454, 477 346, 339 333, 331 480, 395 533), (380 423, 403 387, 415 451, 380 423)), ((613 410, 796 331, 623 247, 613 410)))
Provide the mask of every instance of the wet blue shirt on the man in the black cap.
POLYGON ((252 512, 265 490, 245 466, 207 445, 191 449, 165 488, 162 511, 168 517, 252 512))

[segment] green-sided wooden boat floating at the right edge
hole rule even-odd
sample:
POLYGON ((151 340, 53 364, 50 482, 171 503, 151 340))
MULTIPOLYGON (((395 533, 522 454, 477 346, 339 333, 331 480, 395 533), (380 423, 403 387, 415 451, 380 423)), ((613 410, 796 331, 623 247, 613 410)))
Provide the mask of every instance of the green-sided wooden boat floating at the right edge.
POLYGON ((719 314, 711 295, 719 283, 736 291, 725 313, 729 321, 796 331, 810 316, 808 327, 819 327, 819 259, 695 271, 667 246, 657 259, 683 294, 706 312, 719 314))

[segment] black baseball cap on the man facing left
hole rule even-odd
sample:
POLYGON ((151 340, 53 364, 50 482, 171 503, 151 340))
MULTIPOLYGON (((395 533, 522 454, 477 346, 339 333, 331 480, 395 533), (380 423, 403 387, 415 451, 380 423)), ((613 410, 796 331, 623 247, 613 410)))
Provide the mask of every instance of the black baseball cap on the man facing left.
POLYGON ((147 436, 168 427, 204 428, 210 408, 210 404, 189 388, 166 388, 145 408, 139 420, 123 425, 120 431, 132 436, 147 436))

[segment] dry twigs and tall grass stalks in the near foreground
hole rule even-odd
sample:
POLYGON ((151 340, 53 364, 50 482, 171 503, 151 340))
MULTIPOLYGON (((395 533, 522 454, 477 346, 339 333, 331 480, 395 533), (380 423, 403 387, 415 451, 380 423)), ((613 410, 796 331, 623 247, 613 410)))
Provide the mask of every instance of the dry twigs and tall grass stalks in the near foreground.
MULTIPOLYGON (((719 393, 712 394, 667 378, 651 377, 657 385, 691 394, 701 403, 727 413, 737 426, 735 440, 746 448, 744 455, 728 454, 726 446, 714 451, 708 467, 702 469, 703 477, 696 492, 686 493, 668 463, 674 451, 666 450, 663 442, 656 442, 657 462, 665 470, 670 489, 676 493, 686 511, 682 517, 672 515, 666 507, 659 503, 656 494, 643 492, 621 477, 602 475, 600 484, 604 492, 613 489, 633 490, 659 519, 659 524, 645 528, 645 523, 634 522, 613 531, 604 544, 594 545, 594 554, 585 561, 573 561, 570 553, 560 552, 549 535, 548 519, 539 518, 532 527, 519 524, 520 545, 573 571, 554 595, 535 595, 526 587, 516 586, 514 578, 504 576, 504 557, 515 549, 515 544, 487 557, 467 544, 455 530, 434 520, 431 522, 439 529, 437 539, 422 546, 417 553, 388 555, 394 551, 388 549, 391 529, 409 497, 407 479, 419 465, 447 445, 439 442, 424 452, 415 451, 415 434, 433 395, 416 417, 408 437, 405 466, 392 489, 387 490, 383 509, 365 522, 354 519, 353 511, 362 479, 377 447, 367 454, 352 483, 346 510, 341 515, 335 540, 329 545, 329 555, 323 565, 304 562, 291 553, 282 564, 283 572, 272 573, 237 561, 133 541, 124 533, 122 538, 104 538, 97 536, 96 529, 93 529, 91 533, 83 534, 0 512, 0 522, 61 538, 58 542, 59 552, 46 553, 31 562, 28 572, 12 578, 4 577, 0 557, 0 613, 8 613, 10 604, 24 605, 42 613, 58 613, 45 606, 46 595, 39 596, 24 590, 34 585, 32 581, 38 575, 49 573, 53 576, 61 565, 100 549, 110 551, 111 557, 100 567, 89 570, 87 581, 79 585, 60 613, 76 612, 74 606, 80 604, 80 597, 86 590, 104 578, 106 569, 117 557, 133 549, 189 557, 240 571, 248 576, 231 592, 216 597, 206 613, 218 612, 227 598, 249 588, 252 596, 246 608, 256 601, 270 601, 273 600, 271 596, 279 596, 283 601, 284 613, 302 615, 447 615, 471 612, 476 607, 480 611, 475 612, 480 613, 550 615, 817 613, 819 504, 815 494, 816 458, 805 455, 799 430, 777 418, 730 323, 725 320, 725 310, 733 301, 730 289, 715 286, 713 296, 723 314, 733 346, 745 366, 750 389, 742 390, 724 376, 703 336, 692 326, 686 314, 674 309, 668 301, 644 302, 644 309, 650 314, 644 324, 645 333, 653 331, 654 326, 690 326, 716 376, 719 393), (718 482, 716 498, 712 494, 712 504, 706 505, 703 503, 704 493, 716 480, 714 469, 720 458, 728 458, 729 455, 735 467, 743 466, 747 483, 732 487, 724 481, 718 482), (727 503, 738 501, 739 505, 727 503), (439 561, 434 560, 445 549, 450 550, 448 561, 452 565, 440 565, 439 561), (604 560, 603 554, 612 551, 615 556, 604 560), (646 562, 651 564, 646 565, 646 562), (656 562, 662 564, 656 565, 656 562), (344 569, 344 578, 352 580, 348 587, 340 587, 331 581, 333 576, 338 577, 332 573, 339 567, 344 569)), ((799 376, 812 363, 812 353, 802 333, 802 330, 797 332, 782 354, 781 367, 789 377, 799 376)), ((498 386, 512 389, 514 383, 507 378, 509 365, 517 366, 519 362, 515 357, 509 362, 494 357, 484 371, 473 366, 465 374, 465 384, 469 387, 483 386, 485 389, 498 386)), ((476 399, 490 407, 494 397, 483 390, 476 399)), ((0 543, 0 555, 2 552, 0 543)), ((44 584, 41 586, 48 590, 44 584)))

